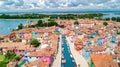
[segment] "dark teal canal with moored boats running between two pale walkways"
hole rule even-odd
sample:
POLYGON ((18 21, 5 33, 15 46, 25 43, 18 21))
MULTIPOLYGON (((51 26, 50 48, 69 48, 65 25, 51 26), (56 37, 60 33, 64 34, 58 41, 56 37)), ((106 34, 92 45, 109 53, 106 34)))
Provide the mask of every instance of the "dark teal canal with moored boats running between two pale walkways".
POLYGON ((62 63, 62 67, 75 67, 74 58, 72 57, 72 54, 70 52, 70 48, 67 45, 67 41, 64 35, 62 35, 62 53, 63 57, 62 60, 66 60, 66 63, 62 63))

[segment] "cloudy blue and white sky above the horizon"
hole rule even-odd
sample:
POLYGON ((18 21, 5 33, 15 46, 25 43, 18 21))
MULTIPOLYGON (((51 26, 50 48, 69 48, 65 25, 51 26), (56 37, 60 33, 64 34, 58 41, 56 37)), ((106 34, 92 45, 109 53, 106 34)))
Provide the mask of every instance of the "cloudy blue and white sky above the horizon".
POLYGON ((0 0, 0 12, 119 9, 120 0, 0 0))

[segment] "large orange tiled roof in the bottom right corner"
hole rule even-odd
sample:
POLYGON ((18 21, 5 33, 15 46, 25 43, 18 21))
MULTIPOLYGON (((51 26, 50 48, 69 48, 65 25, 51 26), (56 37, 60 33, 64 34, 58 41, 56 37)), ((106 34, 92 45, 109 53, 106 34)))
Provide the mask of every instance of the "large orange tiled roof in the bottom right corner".
POLYGON ((119 67, 110 54, 91 54, 94 67, 119 67))

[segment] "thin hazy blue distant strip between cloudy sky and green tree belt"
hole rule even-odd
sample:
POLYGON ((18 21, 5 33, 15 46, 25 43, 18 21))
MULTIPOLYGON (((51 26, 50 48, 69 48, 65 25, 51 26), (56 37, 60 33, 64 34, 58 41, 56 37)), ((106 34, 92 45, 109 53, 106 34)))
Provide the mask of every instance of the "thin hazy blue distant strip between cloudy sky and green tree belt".
POLYGON ((61 11, 17 11, 0 12, 0 14, 59 14, 59 13, 120 13, 120 10, 61 10, 61 11))

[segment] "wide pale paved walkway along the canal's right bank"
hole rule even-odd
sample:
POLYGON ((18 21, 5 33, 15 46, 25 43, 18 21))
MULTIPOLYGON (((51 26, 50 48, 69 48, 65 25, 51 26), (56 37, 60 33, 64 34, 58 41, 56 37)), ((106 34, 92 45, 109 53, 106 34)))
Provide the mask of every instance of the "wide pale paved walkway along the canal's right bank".
MULTIPOLYGON (((80 65, 80 67, 89 67, 88 63, 84 59, 84 57, 78 51, 75 50, 74 43, 72 43, 70 41, 70 38, 66 37, 66 39, 67 39, 67 42, 68 42, 68 44, 70 46, 70 50, 71 50, 71 53, 72 53, 72 55, 73 55, 73 57, 75 59, 76 64, 80 65)), ((77 67, 79 67, 79 66, 77 66, 77 67)))

